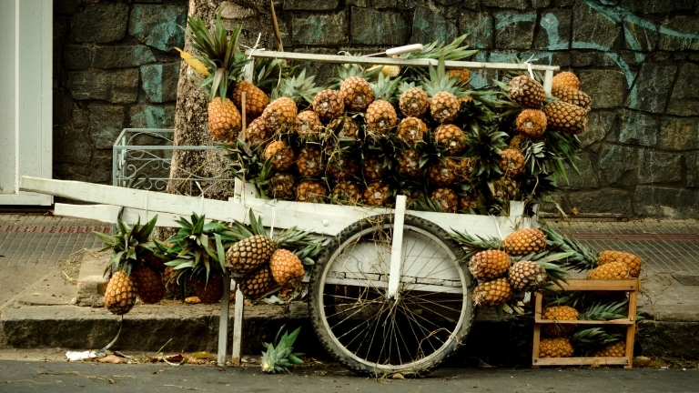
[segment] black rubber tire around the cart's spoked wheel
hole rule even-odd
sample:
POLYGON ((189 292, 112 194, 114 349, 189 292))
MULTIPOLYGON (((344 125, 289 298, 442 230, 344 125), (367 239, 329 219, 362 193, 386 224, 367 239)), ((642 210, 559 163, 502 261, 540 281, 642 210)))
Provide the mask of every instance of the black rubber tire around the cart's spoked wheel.
POLYGON ((392 225, 392 222, 393 215, 381 215, 365 218, 350 225, 349 227, 346 227, 338 234, 337 237, 334 237, 330 241, 328 247, 325 248, 324 252, 319 257, 318 263, 313 268, 310 275, 309 315, 313 329, 315 330, 322 346, 333 358, 335 358, 344 367, 349 368, 349 370, 360 375, 370 376, 383 376, 402 373, 404 376, 423 377, 429 374, 435 368, 438 368, 444 361, 451 358, 451 356, 457 352, 457 349, 461 347, 461 344, 465 341, 465 338, 468 335, 475 318, 475 310, 471 301, 471 294, 473 292, 473 287, 475 287, 475 282, 471 277, 467 264, 461 262, 463 260, 461 247, 458 243, 451 239, 451 236, 449 233, 447 233, 447 231, 426 219, 410 215, 405 216, 404 227, 416 227, 429 232, 433 236, 439 238, 441 243, 451 250, 451 253, 456 256, 455 262, 457 266, 461 268, 461 271, 463 271, 463 275, 466 280, 465 290, 467 292, 467 296, 464 297, 464 301, 467 302, 465 310, 467 315, 463 317, 461 328, 454 335, 454 338, 456 339, 452 339, 449 346, 443 348, 441 353, 437 353, 436 356, 434 356, 430 361, 421 364, 420 368, 415 368, 415 366, 411 366, 413 363, 409 363, 407 365, 396 366, 390 369, 382 366, 382 368, 379 369, 360 363, 353 358, 349 358, 344 350, 342 348, 338 348, 336 342, 331 338, 332 333, 325 328, 319 309, 320 307, 317 306, 319 305, 319 298, 323 296, 319 284, 321 282, 321 276, 325 273, 326 266, 329 263, 329 258, 333 256, 336 250, 349 238, 354 237, 357 233, 360 233, 370 227, 383 227, 385 224, 392 225))

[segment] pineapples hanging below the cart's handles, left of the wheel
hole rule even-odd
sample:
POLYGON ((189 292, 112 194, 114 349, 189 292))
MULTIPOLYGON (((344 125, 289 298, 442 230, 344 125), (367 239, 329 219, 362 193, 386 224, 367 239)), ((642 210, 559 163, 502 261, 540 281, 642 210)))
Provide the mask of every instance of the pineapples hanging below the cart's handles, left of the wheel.
POLYGON ((250 212, 250 224, 234 222, 233 227, 206 222, 192 214, 181 217, 177 234, 158 242, 150 238, 156 226, 154 217, 145 226, 129 227, 119 221, 117 233, 95 232, 112 250, 105 274, 111 277, 105 292, 105 307, 124 315, 137 298, 155 304, 166 291, 182 292, 183 286, 195 289, 198 302, 214 304, 224 291, 223 276, 229 273, 245 297, 258 299, 279 291, 291 297, 301 286, 306 265, 313 264, 322 242, 309 232, 289 228, 275 237, 250 212))

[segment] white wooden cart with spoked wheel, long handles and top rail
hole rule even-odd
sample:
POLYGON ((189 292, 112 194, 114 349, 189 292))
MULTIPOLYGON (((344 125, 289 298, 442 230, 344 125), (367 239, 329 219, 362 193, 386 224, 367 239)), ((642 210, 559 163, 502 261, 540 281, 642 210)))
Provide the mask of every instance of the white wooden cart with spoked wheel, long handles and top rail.
MULTIPOLYGON (((250 51, 252 58, 363 65, 436 65, 435 60, 404 60, 343 55, 308 55, 250 51)), ((545 73, 551 92, 557 66, 446 62, 449 68, 536 70, 545 73)), ((251 69, 249 67, 248 69, 251 69)), ((248 79, 251 73, 247 74, 248 79)), ((410 211, 405 197, 396 207, 367 208, 255 197, 252 185, 236 184, 236 196, 218 201, 81 182, 23 177, 21 189, 62 196, 99 206, 56 204, 56 215, 128 223, 158 216, 158 226, 177 227, 175 220, 192 212, 208 219, 245 221, 248 208, 266 227, 299 227, 331 237, 329 246, 307 277, 309 313, 321 343, 346 367, 365 374, 420 374, 430 371, 459 348, 474 317, 474 286, 461 248, 449 232, 504 238, 516 228, 535 226, 522 202, 511 202, 509 217, 410 211)), ((221 301, 218 363, 225 363, 228 332, 228 289, 221 301)), ((233 361, 240 356, 243 295, 235 302, 233 361)))

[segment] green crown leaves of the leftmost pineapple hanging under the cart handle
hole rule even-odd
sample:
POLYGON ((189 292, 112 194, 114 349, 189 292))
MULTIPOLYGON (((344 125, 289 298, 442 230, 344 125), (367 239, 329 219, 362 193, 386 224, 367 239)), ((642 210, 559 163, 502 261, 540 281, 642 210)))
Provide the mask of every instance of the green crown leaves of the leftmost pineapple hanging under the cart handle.
POLYGON ((123 270, 130 274, 140 258, 153 251, 155 245, 150 240, 150 234, 156 227, 156 222, 157 216, 148 221, 146 225, 141 226, 141 218, 138 217, 136 225, 129 227, 119 219, 117 220, 116 234, 110 236, 101 232, 93 232, 104 242, 105 247, 101 251, 112 250, 105 273, 111 267, 115 267, 117 270, 123 270))

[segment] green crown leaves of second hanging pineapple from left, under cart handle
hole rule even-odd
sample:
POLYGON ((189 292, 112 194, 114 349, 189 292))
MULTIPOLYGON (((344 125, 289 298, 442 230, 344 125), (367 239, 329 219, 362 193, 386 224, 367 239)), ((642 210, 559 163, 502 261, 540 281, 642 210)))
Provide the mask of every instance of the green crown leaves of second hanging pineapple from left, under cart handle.
POLYGON ((173 259, 166 265, 176 270, 191 269, 192 276, 203 276, 207 280, 213 272, 225 271, 224 250, 235 241, 229 234, 230 228, 214 221, 207 223, 205 215, 196 213, 192 213, 191 221, 180 217, 176 222, 181 228, 166 240, 173 243, 167 248, 167 254, 173 259))

